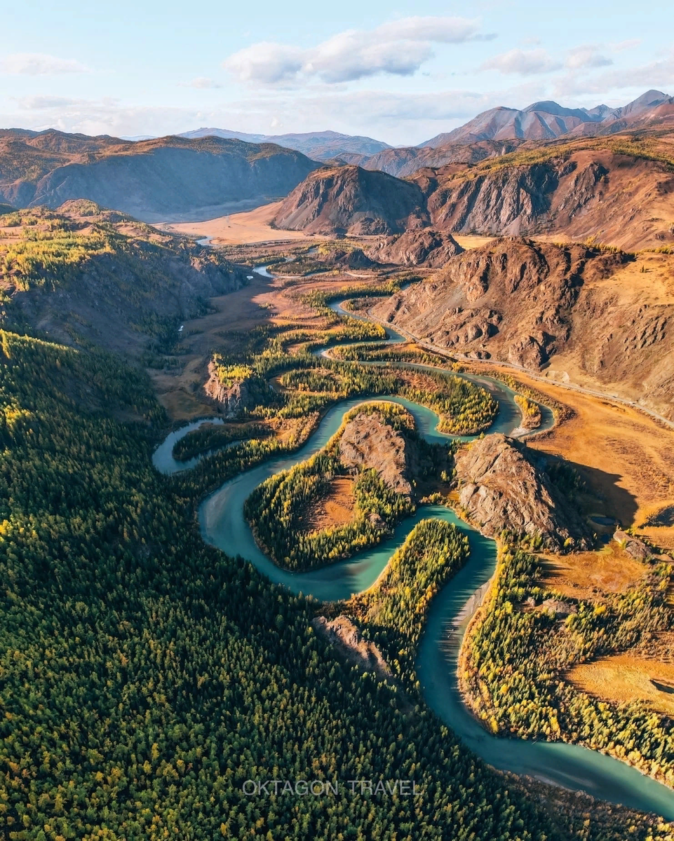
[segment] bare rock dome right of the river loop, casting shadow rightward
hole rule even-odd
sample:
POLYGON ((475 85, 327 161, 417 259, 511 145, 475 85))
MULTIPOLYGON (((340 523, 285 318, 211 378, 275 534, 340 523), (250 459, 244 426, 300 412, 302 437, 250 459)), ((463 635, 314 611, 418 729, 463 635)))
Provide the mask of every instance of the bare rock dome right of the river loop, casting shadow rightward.
POLYGON ((545 547, 588 548, 583 518, 536 464, 539 453, 504 435, 462 447, 455 457, 459 505, 488 537, 504 529, 539 535, 545 547))

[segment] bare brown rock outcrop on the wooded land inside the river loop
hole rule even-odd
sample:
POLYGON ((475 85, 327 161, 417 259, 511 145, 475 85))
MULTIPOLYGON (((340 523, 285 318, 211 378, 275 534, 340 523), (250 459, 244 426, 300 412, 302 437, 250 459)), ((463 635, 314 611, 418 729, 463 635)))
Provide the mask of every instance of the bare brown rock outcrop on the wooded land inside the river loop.
POLYGON ((360 412, 348 421, 339 441, 339 456, 344 467, 374 469, 396 493, 413 495, 414 477, 420 469, 417 447, 376 412, 360 412))

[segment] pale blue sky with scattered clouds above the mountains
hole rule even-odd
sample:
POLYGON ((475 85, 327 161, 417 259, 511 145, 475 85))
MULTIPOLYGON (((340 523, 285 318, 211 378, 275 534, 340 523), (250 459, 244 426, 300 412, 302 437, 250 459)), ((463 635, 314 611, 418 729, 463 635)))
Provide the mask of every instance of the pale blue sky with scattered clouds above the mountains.
POLYGON ((674 94, 671 0, 22 0, 0 128, 334 130, 416 145, 496 105, 674 94))

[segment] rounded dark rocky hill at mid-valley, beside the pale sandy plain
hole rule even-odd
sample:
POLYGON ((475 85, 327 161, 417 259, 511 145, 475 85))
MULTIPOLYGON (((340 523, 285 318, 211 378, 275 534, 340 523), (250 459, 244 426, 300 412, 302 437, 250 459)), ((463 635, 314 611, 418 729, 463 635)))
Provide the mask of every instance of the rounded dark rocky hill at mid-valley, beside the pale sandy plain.
POLYGON ((428 224, 417 184, 353 166, 311 172, 273 220, 282 230, 323 235, 399 234, 428 224))

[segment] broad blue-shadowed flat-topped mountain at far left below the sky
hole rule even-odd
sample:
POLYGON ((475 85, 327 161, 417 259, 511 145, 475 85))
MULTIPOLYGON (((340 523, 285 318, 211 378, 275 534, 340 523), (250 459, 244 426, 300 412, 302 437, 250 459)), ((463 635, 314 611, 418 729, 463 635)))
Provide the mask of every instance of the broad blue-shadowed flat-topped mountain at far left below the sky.
POLYGON ((137 142, 60 131, 0 133, 0 200, 56 208, 89 198, 146 221, 199 212, 204 218, 241 200, 284 196, 316 163, 273 144, 218 137, 137 142))

